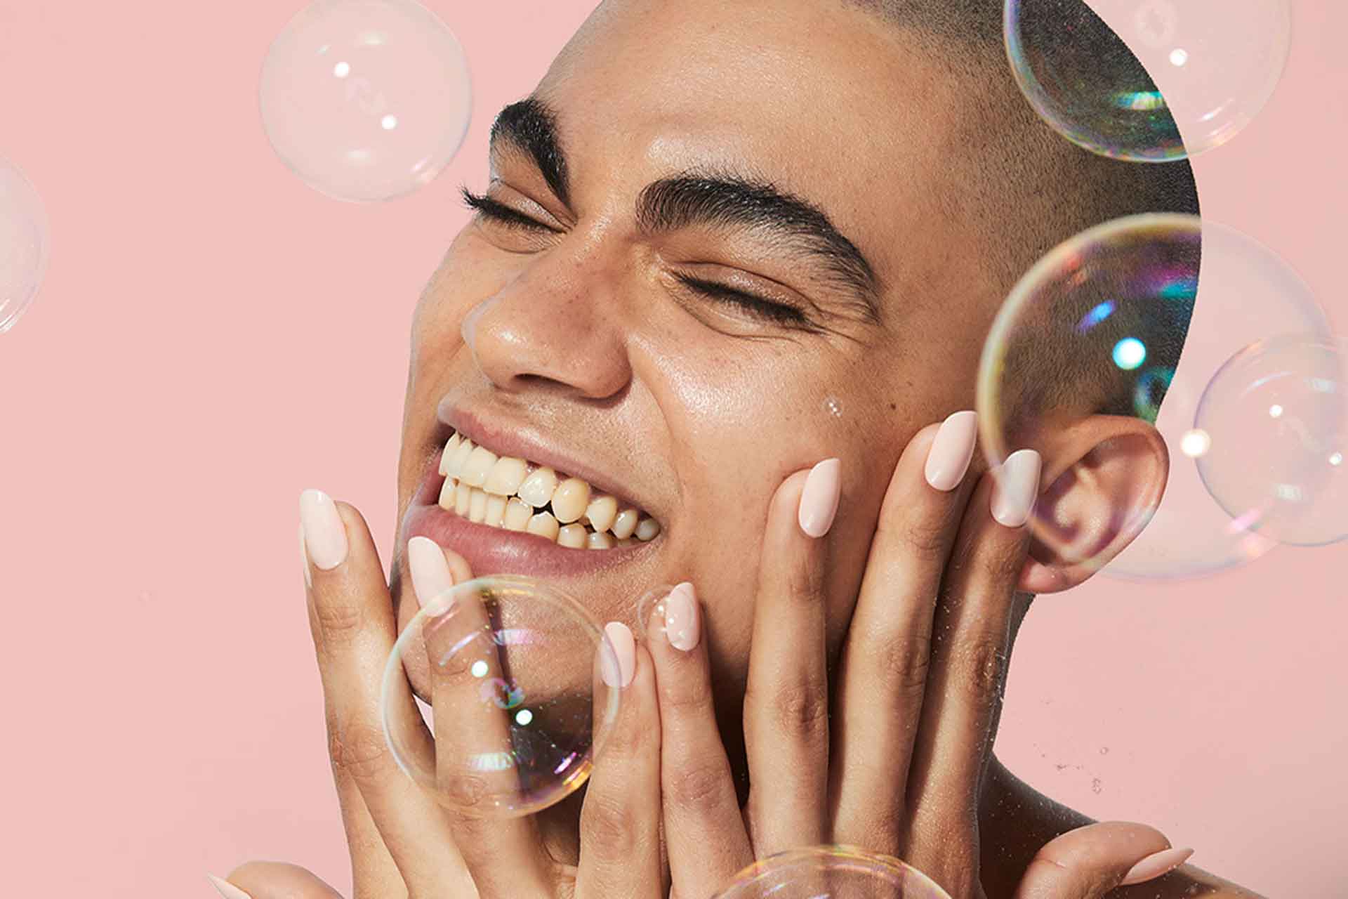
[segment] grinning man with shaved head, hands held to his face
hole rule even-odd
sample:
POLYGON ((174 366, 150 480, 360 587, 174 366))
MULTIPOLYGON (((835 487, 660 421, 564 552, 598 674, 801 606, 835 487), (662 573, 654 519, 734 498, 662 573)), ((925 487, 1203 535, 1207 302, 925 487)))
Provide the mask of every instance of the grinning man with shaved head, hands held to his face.
MULTIPOLYGON (((1031 596, 1089 576, 1031 539, 1031 505, 1123 520, 1167 458, 1101 414, 984 472, 984 337, 1061 240, 1197 212, 1186 163, 1103 159, 1035 117, 1000 8, 605 0, 500 113, 477 214, 412 319, 392 584, 355 508, 301 499, 357 899, 706 899, 822 842, 956 899, 1251 895, 991 751, 1031 596), (1091 458, 1123 465, 1062 483, 1091 458), (493 573, 611 621, 624 691, 586 788, 511 821, 438 806, 379 717, 419 601, 493 573), (654 584, 679 586, 635 640, 654 584)), ((415 736, 412 667, 395 726, 415 736)), ((214 883, 337 895, 276 863, 214 883)))

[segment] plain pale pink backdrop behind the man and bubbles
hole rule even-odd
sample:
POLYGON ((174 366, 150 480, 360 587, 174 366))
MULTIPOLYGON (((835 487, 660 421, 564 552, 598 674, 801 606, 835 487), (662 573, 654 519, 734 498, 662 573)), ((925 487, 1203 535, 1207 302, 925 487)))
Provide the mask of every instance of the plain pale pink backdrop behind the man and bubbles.
MULTIPOLYGON (((0 337, 7 895, 205 898, 249 857, 349 888, 297 495, 355 503, 387 563, 410 314, 466 220, 456 185, 484 186, 492 115, 593 4, 430 0, 470 57, 472 131, 373 206, 310 190, 263 135, 259 67, 301 5, 0 0, 0 155, 53 222, 0 337)), ((1204 212, 1341 323, 1348 7, 1295 5, 1273 105, 1196 167, 1204 212)), ((1041 600, 1004 760, 1271 896, 1344 895, 1345 561, 1041 600)))

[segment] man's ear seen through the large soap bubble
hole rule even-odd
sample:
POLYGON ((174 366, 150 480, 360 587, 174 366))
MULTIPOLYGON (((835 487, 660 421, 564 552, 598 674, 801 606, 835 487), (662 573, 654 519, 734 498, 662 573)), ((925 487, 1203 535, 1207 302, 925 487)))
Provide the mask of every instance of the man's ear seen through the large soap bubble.
POLYGON ((1086 581, 1147 526, 1170 474, 1170 452, 1147 422, 1092 415, 1037 441, 1043 477, 1019 589, 1058 593, 1086 581))

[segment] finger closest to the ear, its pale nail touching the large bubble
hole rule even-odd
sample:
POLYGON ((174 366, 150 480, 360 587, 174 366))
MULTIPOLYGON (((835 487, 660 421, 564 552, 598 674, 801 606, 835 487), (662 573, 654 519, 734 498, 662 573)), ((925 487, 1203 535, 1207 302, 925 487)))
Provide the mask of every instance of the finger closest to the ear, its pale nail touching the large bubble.
MULTIPOLYGON (((949 834, 975 821, 1006 682, 1015 586, 1030 542, 1024 523, 1038 478, 1038 453, 1012 454, 1002 470, 980 478, 960 524, 933 620, 931 667, 910 779, 910 832, 949 834)), ((923 859, 930 853, 960 863, 946 846, 922 849, 923 859)), ((918 846, 909 850, 919 852, 918 846)))

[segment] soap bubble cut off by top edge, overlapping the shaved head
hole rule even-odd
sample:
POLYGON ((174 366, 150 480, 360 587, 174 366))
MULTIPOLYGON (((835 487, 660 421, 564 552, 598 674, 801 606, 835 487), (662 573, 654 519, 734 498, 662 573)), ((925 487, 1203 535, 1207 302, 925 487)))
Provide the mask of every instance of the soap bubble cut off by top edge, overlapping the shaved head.
POLYGON ((1006 0, 1035 112, 1080 147, 1170 162, 1231 140, 1282 78, 1289 0, 1006 0))

